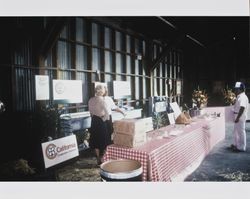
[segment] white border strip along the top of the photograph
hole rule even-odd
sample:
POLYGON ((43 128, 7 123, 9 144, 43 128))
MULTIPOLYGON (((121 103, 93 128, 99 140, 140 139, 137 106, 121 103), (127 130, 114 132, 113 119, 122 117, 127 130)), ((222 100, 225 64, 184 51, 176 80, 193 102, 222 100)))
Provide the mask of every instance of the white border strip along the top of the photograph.
POLYGON ((2 16, 249 16, 249 0, 0 0, 2 16))

